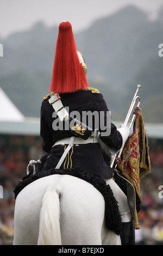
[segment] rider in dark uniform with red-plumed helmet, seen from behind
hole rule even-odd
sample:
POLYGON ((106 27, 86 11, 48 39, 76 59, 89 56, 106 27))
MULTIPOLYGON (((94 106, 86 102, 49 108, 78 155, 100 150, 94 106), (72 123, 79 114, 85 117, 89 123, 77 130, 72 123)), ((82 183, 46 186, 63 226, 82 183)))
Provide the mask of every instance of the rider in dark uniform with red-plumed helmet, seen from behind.
MULTIPOLYGON (((43 98, 41 106, 40 134, 43 150, 48 153, 42 170, 80 167, 101 176, 114 193, 123 222, 123 233, 127 234, 131 228, 127 196, 113 179, 114 170, 104 160, 97 135, 99 133, 99 138, 110 149, 110 153, 115 154, 127 140, 129 129, 125 125, 120 125, 117 129, 111 123, 111 118, 108 124, 110 112, 103 95, 97 89, 90 88, 87 83, 86 63, 82 54, 77 51, 70 22, 61 22, 59 26, 49 90, 52 93, 43 98), (89 111, 99 114, 98 124, 94 118, 91 127, 88 120, 84 123, 83 118, 77 118, 78 113, 82 117, 83 113, 89 111), (100 120, 104 121, 103 126, 100 120), (109 133, 106 132, 108 128, 109 133)), ((122 244, 134 243, 127 236, 125 239, 124 235, 122 237, 122 244)))

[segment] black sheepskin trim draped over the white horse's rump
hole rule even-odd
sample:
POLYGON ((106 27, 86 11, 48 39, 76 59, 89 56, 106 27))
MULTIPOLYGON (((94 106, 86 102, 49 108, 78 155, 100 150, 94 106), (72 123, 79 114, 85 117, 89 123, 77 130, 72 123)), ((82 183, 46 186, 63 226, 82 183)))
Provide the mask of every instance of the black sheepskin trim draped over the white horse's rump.
POLYGON ((76 176, 77 178, 83 179, 90 184, 92 184, 99 192, 102 193, 104 200, 105 200, 105 223, 106 227, 109 230, 114 231, 117 235, 120 235, 122 231, 122 220, 121 215, 118 210, 118 205, 114 194, 109 185, 106 185, 105 181, 101 179, 100 176, 96 174, 92 174, 90 172, 85 171, 84 169, 80 168, 72 168, 72 169, 50 169, 46 171, 42 171, 36 173, 34 175, 27 175, 23 178, 23 180, 15 187, 15 199, 18 193, 26 187, 28 184, 32 183, 33 181, 53 175, 53 174, 61 174, 61 175, 72 175, 76 176))

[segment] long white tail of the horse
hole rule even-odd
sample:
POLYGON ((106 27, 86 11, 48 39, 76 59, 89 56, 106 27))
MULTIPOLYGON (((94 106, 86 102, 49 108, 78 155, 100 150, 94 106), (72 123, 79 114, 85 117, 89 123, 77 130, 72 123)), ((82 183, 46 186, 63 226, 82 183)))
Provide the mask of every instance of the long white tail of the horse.
POLYGON ((50 187, 43 196, 37 245, 61 245, 60 194, 61 188, 50 187))

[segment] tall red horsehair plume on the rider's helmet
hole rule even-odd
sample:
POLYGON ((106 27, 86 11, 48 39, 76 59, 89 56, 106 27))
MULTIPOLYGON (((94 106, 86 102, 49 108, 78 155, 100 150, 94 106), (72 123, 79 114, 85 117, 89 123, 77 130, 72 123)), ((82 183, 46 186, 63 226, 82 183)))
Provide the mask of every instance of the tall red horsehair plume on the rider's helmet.
POLYGON ((49 90, 55 93, 73 93, 88 87, 79 62, 77 46, 70 22, 61 22, 55 48, 52 82, 49 90))

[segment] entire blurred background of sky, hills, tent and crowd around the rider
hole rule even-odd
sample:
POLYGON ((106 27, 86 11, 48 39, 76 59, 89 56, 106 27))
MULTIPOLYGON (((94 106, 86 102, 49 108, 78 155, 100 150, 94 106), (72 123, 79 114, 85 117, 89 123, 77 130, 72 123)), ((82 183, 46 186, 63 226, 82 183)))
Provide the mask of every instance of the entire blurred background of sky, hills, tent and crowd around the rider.
POLYGON ((103 94, 117 126, 141 84, 152 172, 141 182, 135 239, 136 245, 163 245, 162 0, 0 0, 0 7, 0 244, 12 244, 14 187, 29 160, 45 154, 40 107, 49 93, 58 26, 66 20, 85 58, 89 85, 103 94))

